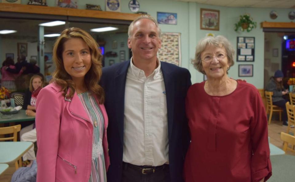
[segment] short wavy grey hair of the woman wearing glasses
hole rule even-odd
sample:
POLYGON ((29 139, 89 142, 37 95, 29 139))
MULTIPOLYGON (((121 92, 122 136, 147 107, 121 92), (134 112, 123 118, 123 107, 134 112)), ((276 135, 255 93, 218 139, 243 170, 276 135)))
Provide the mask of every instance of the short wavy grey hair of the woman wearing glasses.
POLYGON ((223 47, 226 50, 227 61, 228 61, 228 64, 230 65, 227 71, 230 69, 232 65, 234 65, 234 48, 225 37, 221 35, 218 35, 216 37, 205 37, 199 41, 196 47, 195 59, 192 59, 191 61, 195 69, 197 69, 199 72, 206 74, 205 71, 203 70, 201 53, 205 51, 207 45, 213 45, 215 47, 223 47))

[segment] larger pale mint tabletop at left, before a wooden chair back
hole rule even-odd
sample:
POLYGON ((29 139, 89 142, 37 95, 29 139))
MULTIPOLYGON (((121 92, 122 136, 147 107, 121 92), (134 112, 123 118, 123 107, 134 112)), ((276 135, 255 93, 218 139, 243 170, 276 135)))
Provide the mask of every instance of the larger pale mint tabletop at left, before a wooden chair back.
POLYGON ((0 163, 14 163, 28 152, 31 147, 33 147, 33 143, 30 141, 0 142, 0 163))

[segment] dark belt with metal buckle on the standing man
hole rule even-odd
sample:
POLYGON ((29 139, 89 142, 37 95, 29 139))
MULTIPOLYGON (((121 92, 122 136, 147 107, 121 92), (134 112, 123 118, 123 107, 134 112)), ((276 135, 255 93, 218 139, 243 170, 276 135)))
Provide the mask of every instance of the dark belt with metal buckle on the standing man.
POLYGON ((155 173, 159 170, 169 168, 169 165, 163 164, 161 166, 138 166, 138 165, 130 164, 127 162, 123 162, 123 168, 125 168, 125 169, 132 168, 136 171, 140 171, 142 174, 152 174, 152 173, 155 173))

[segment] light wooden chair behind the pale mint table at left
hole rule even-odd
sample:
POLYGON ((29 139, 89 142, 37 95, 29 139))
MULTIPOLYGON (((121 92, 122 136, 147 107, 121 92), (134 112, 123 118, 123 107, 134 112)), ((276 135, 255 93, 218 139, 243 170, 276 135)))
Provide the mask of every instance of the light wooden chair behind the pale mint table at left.
MULTIPOLYGON (((15 126, 9 126, 9 127, 1 127, 0 128, 0 135, 3 135, 3 138, 0 138, 0 141, 5 140, 13 140, 17 141, 18 139, 18 132, 21 131, 21 125, 15 125, 15 126), (6 134, 13 134, 11 137, 5 137, 6 134)), ((22 157, 15 162, 15 169, 18 169, 19 167, 22 167, 22 157), (19 162, 19 164, 18 164, 19 162)))

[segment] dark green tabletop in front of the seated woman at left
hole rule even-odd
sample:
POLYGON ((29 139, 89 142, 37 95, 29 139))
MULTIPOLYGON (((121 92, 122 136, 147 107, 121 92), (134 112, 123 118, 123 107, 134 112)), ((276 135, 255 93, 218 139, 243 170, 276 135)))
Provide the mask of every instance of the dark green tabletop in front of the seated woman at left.
POLYGON ((0 123, 34 121, 34 116, 26 116, 26 110, 20 110, 16 114, 2 114, 0 113, 0 123))

